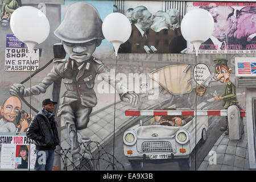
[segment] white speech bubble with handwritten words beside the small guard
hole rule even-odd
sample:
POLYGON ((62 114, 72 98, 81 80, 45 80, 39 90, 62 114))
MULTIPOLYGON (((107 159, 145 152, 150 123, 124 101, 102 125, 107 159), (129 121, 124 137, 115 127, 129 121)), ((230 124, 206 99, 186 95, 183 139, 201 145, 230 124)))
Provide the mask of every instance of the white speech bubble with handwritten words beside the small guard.
POLYGON ((194 80, 199 85, 201 84, 208 85, 210 82, 218 81, 215 78, 212 78, 211 80, 207 80, 207 78, 209 78, 210 75, 212 75, 212 73, 210 73, 210 69, 206 64, 203 64, 203 63, 197 64, 193 70, 194 80))

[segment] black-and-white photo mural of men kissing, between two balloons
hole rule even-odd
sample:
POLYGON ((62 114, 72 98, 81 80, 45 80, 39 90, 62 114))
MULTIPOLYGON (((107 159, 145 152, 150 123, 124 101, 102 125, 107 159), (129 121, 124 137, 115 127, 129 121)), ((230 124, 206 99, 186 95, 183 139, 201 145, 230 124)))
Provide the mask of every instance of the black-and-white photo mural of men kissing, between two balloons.
POLYGON ((185 2, 115 1, 119 13, 131 22, 130 39, 119 53, 184 53, 187 42, 181 35, 180 22, 185 2))

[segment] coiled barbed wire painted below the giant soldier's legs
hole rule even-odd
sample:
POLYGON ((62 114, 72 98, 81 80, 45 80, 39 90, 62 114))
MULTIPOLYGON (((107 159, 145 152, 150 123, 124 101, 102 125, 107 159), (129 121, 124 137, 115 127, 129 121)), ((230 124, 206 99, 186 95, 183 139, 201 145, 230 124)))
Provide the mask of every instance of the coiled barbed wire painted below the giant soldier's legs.
POLYGON ((68 155, 71 155, 71 148, 66 149, 60 146, 59 150, 55 150, 55 153, 60 155, 62 162, 61 165, 63 165, 62 168, 64 171, 68 171, 68 168, 72 171, 125 170, 123 164, 118 162, 117 158, 115 158, 113 154, 107 152, 99 142, 79 142, 79 146, 82 149, 82 154, 80 152, 79 160, 75 161, 72 159, 72 157, 68 157, 68 155), (97 149, 94 150, 92 154, 90 146, 93 143, 96 144, 97 149), (104 164, 106 166, 105 169, 101 169, 100 167, 104 166, 104 164))

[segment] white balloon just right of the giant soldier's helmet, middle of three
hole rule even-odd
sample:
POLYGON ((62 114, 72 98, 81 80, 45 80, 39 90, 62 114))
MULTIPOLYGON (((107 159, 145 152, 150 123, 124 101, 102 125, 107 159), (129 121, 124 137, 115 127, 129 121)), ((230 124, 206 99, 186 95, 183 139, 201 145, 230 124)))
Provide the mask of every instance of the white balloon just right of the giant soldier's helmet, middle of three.
POLYGON ((102 23, 102 33, 105 38, 113 44, 115 56, 117 56, 119 46, 130 38, 131 23, 129 19, 121 13, 109 14, 102 23))

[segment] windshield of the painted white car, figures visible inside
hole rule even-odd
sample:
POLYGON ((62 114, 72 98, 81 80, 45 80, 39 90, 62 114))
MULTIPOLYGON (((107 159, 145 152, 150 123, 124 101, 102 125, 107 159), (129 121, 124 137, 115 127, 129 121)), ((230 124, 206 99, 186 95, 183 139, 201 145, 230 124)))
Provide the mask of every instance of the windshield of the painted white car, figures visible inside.
POLYGON ((163 126, 184 126, 190 121, 192 121, 193 117, 191 115, 186 115, 184 117, 180 116, 168 116, 168 117, 152 117, 147 121, 143 122, 143 126, 150 126, 150 125, 163 125, 163 126))

